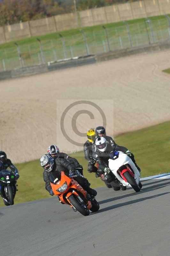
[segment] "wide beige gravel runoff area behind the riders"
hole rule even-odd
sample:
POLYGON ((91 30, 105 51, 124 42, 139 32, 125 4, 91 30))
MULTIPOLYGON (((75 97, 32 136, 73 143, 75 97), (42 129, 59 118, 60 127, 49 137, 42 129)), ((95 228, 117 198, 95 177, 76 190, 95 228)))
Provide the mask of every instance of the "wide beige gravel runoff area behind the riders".
MULTIPOLYGON (((114 129, 108 129, 110 136, 170 120, 170 76, 162 72, 170 67, 169 56, 170 50, 138 54, 1 81, 0 148, 15 163, 39 158, 51 143, 68 149, 67 140, 59 141, 59 132, 56 139, 58 99, 59 114, 66 100, 68 105, 70 99, 101 100, 101 106, 108 102, 109 112, 112 106, 106 100, 113 99, 114 129)), ((69 119, 69 115, 67 117, 69 119)), ((101 116, 97 116, 95 122, 83 114, 78 128, 86 132, 100 125, 101 116)), ((70 125, 66 124, 67 128, 70 125)))

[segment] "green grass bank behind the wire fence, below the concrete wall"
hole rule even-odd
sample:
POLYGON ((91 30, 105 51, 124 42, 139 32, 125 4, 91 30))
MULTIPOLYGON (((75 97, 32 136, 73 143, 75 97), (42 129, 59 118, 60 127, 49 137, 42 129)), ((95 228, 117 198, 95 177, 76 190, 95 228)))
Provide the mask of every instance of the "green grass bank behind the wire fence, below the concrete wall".
MULTIPOLYGON (((164 16, 150 17, 152 27, 155 32, 156 41, 169 38, 168 22, 164 16)), ((145 19, 128 20, 133 46, 152 43, 151 31, 147 25, 148 36, 145 26, 145 19)), ((130 46, 127 34, 127 28, 123 22, 105 24, 108 29, 108 37, 111 50, 119 50, 130 46), (121 43, 120 43, 121 41, 121 43)), ((106 37, 102 25, 82 28, 87 37, 89 51, 91 54, 97 54, 107 51, 106 37)), ((72 29, 60 32, 66 43, 67 57, 82 56, 86 54, 83 36, 79 29, 72 29), (71 47, 71 48, 70 48, 71 47)), ((21 49, 22 58, 25 66, 38 64, 41 60, 39 43, 37 36, 16 40, 21 49), (39 54, 39 59, 38 59, 39 54)), ((63 59, 64 51, 62 40, 58 33, 38 36, 43 44, 43 51, 46 62, 51 60, 63 59)), ((17 47, 14 42, 0 45, 0 70, 3 70, 2 60, 5 61, 6 69, 20 67, 17 47)))

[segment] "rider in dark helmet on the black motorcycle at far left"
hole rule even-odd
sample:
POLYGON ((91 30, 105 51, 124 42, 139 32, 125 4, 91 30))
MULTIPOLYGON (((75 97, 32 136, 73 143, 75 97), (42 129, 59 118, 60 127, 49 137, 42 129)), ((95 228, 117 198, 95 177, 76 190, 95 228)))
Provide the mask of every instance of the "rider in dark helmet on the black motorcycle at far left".
MULTIPOLYGON (((8 167, 15 173, 16 179, 19 179, 18 169, 12 164, 11 160, 7 158, 6 153, 4 151, 0 151, 0 172, 2 170, 6 170, 8 167)), ((3 197, 5 204, 6 198, 3 187, 0 188, 0 195, 3 197)))

